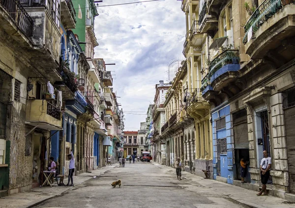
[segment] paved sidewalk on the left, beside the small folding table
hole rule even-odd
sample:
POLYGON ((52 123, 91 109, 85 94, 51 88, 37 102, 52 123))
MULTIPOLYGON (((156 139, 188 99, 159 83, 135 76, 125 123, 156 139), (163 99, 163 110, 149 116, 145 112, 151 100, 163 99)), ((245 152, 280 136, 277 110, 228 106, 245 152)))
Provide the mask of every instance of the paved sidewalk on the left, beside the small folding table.
MULTIPOLYGON (((73 176, 74 184, 78 185, 93 178, 93 176, 100 176, 101 174, 114 169, 117 165, 118 164, 113 164, 112 166, 92 170, 91 173, 82 173, 78 176, 73 176)), ((65 177, 64 183, 67 183, 67 177, 65 177)), ((58 186, 55 182, 53 187, 37 187, 30 189, 29 191, 0 198, 0 208, 30 208, 74 188, 75 186, 58 186)))

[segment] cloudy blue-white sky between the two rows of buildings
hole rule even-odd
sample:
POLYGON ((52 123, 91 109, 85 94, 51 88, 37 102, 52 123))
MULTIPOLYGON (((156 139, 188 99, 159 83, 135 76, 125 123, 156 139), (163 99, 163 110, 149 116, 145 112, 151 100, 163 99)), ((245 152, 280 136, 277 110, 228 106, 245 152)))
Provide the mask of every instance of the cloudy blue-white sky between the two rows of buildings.
MULTIPOLYGON (((143 0, 103 0, 99 6, 143 0)), ((139 130, 155 84, 168 79, 168 65, 182 55, 185 15, 179 0, 98 7, 95 58, 104 58, 125 114, 125 130, 139 130), (133 113, 133 114, 131 114, 133 113)))

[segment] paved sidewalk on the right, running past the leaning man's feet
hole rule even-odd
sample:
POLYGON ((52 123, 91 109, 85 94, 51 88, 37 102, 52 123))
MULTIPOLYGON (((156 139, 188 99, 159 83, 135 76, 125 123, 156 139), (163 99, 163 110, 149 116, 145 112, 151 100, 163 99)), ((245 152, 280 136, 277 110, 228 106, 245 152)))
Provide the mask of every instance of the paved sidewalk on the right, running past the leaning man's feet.
MULTIPOLYGON (((160 168, 166 168, 168 172, 176 175, 175 168, 167 167, 165 165, 160 165, 156 162, 152 162, 154 165, 160 168)), ((189 189, 190 191, 198 192, 200 194, 212 194, 219 193, 225 198, 230 198, 238 203, 249 206, 251 208, 295 208, 295 204, 288 202, 282 198, 274 196, 256 196, 258 192, 241 188, 236 185, 218 182, 211 179, 204 179, 200 176, 193 175, 188 172, 181 171, 181 175, 184 178, 184 182, 189 180, 196 183, 195 187, 186 186, 183 187, 189 189)), ((181 182, 179 182, 181 185, 181 182)))

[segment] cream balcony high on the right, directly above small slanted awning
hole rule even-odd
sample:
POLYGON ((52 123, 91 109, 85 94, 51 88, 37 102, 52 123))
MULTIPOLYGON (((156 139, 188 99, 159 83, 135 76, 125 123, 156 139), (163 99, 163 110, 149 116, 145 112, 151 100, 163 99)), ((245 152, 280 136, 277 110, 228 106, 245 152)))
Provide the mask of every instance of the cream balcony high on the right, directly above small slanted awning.
POLYGON ((199 15, 199 26, 201 33, 207 33, 211 38, 218 31, 218 20, 207 14, 207 1, 205 1, 199 15))

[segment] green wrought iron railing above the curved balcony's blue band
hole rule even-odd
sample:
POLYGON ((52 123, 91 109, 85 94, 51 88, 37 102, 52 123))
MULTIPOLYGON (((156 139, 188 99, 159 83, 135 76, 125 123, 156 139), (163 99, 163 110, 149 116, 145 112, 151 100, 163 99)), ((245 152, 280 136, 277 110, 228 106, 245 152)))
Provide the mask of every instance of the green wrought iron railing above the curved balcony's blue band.
POLYGON ((211 78, 212 75, 221 67, 227 64, 238 64, 239 63, 239 54, 238 50, 225 50, 220 53, 216 58, 214 58, 209 66, 208 78, 211 78))

